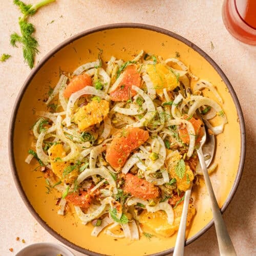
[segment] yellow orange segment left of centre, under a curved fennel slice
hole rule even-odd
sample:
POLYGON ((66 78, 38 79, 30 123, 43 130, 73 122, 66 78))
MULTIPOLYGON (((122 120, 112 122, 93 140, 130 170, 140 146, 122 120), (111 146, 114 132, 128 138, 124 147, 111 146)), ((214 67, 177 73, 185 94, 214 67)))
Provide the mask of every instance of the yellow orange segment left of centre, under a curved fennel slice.
POLYGON ((73 121, 77 123, 80 131, 89 126, 101 122, 109 113, 109 102, 101 99, 92 100, 87 105, 78 108, 74 114, 73 121))

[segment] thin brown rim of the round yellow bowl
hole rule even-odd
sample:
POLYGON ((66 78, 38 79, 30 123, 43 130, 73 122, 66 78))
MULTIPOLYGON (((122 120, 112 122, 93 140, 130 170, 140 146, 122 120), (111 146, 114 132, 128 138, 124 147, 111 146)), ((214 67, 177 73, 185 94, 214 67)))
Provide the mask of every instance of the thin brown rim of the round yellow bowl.
MULTIPOLYGON (((82 32, 66 39, 65 41, 61 42, 58 46, 56 46, 53 50, 51 50, 44 58, 42 58, 42 60, 38 63, 38 65, 31 71, 31 73, 29 74, 28 78, 26 79, 26 81, 24 82, 22 88, 20 89, 20 91, 18 93, 18 96, 14 103, 14 108, 12 111, 12 115, 11 115, 11 119, 10 119, 10 126, 9 126, 9 138, 8 138, 9 160, 10 160, 10 166, 11 166, 11 170, 12 170, 13 179, 14 179, 15 185, 18 189, 19 195, 20 195, 20 197, 22 197, 25 205, 27 206, 27 208, 29 209, 29 211, 31 212, 33 217, 40 223, 40 225, 42 227, 44 227, 53 237, 58 239, 60 242, 62 242, 63 244, 66 244, 67 246, 69 246, 70 248, 72 248, 74 250, 77 250, 82 253, 86 253, 91 256, 97 256, 97 255, 103 255, 103 254, 84 249, 84 248, 68 241, 66 238, 63 238, 54 229, 49 227, 44 220, 41 219, 41 217, 37 214, 36 210, 33 208, 31 203, 29 202, 29 200, 25 194, 25 191, 23 190, 22 184, 19 181, 17 169, 16 169, 16 165, 15 165, 15 160, 14 160, 14 152, 13 152, 14 126, 15 126, 15 120, 16 120, 16 115, 18 112, 19 104, 22 101, 23 95, 26 92, 26 89, 28 88, 30 81, 33 79, 35 74, 39 71, 39 69, 44 65, 44 63, 49 58, 51 58, 56 52, 58 52, 63 47, 65 47, 69 44, 72 44, 73 41, 75 41, 83 36, 86 36, 86 35, 89 35, 89 34, 92 34, 95 32, 99 32, 99 31, 103 31, 103 30, 120 29, 120 28, 136 28, 136 29, 151 30, 151 31, 165 34, 165 35, 168 35, 170 37, 180 40, 187 46, 189 46, 192 49, 194 49, 195 51, 197 51, 201 56, 203 56, 211 64, 211 66, 214 67, 214 69, 217 71, 217 73, 221 76, 222 80, 226 84, 226 86, 229 90, 229 93, 233 99, 233 102, 236 105, 236 109, 238 112, 240 129, 241 129, 241 155, 240 155, 240 162, 239 162, 236 180, 234 181, 233 186, 230 190, 230 193, 221 208, 222 213, 225 211, 225 209, 227 208, 231 199, 233 198, 234 194, 236 193, 237 187, 239 185, 239 182, 240 182, 240 179, 242 176, 243 166, 244 166, 244 161, 245 161, 245 149, 246 149, 245 123, 244 123, 244 117, 243 117, 243 113, 242 113, 242 109, 241 109, 241 105, 239 103, 238 97, 237 97, 236 93, 234 92, 234 89, 231 86, 231 83, 229 82, 228 78, 226 77, 224 72, 221 70, 221 68, 217 65, 217 63, 208 54, 206 54, 203 50, 201 50, 198 46, 196 46, 193 42, 187 40, 186 38, 184 38, 174 32, 168 31, 166 29, 155 27, 152 25, 140 24, 140 23, 116 23, 116 24, 108 24, 108 25, 98 26, 98 27, 95 27, 92 29, 82 31, 82 32)), ((202 228, 198 233, 196 233, 195 236, 189 238, 185 242, 185 245, 188 245, 188 244, 192 243, 193 241, 195 241, 196 239, 198 239, 199 237, 201 237, 202 234, 205 233, 213 224, 214 224, 214 221, 212 219, 204 228, 202 228)), ((166 255, 168 253, 172 253, 173 251, 174 251, 174 247, 170 248, 168 250, 162 251, 162 252, 154 253, 152 255, 154 255, 154 256, 166 255)))

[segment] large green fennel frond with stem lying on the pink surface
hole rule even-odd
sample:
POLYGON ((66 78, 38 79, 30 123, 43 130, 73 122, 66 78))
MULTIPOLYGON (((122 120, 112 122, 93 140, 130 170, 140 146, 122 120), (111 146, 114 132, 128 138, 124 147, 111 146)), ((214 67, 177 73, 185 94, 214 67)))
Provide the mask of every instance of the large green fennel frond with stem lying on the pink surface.
POLYGON ((18 35, 17 33, 11 34, 10 42, 12 46, 16 46, 16 42, 20 42, 20 44, 22 44, 24 59, 27 61, 31 69, 34 67, 35 55, 38 53, 38 42, 32 35, 35 32, 35 27, 32 23, 29 23, 27 19, 29 16, 34 15, 40 7, 54 1, 55 0, 43 0, 34 5, 26 5, 19 0, 13 1, 13 3, 19 7, 23 17, 20 17, 18 22, 21 35, 18 35))

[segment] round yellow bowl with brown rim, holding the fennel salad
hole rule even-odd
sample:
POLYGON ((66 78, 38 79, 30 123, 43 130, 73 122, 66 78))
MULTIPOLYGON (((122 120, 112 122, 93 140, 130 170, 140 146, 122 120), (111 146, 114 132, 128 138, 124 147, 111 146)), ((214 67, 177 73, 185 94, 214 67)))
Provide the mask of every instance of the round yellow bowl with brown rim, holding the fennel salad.
MULTIPOLYGON (((164 255, 173 251, 176 235, 170 238, 142 237, 139 241, 114 239, 100 234, 91 237, 91 226, 84 226, 76 217, 56 214, 55 194, 46 194, 45 181, 36 166, 24 162, 33 140, 29 130, 35 122, 35 110, 45 110, 43 102, 49 90, 59 77, 59 70, 74 71, 84 62, 97 58, 102 49, 102 58, 112 55, 129 60, 141 49, 173 57, 180 53, 180 59, 190 67, 191 72, 201 79, 216 85, 224 99, 228 123, 224 132, 217 136, 214 162, 217 171, 211 175, 218 203, 222 212, 231 201, 239 180, 245 158, 245 127, 237 96, 222 70, 205 52, 185 38, 167 30, 142 24, 115 24, 87 30, 64 41, 53 49, 31 72, 16 100, 10 126, 9 155, 13 177, 28 209, 36 220, 54 237, 66 245, 89 255, 164 255)), ((212 214, 204 182, 193 191, 197 215, 187 234, 186 244, 196 240, 212 224, 212 214)))

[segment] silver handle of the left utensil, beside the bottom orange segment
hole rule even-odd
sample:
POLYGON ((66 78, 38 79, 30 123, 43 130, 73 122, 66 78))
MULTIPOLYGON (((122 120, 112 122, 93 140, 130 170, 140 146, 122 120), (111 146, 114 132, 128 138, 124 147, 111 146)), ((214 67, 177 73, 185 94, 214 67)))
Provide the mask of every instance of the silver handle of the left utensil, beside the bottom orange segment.
POLYGON ((186 190, 186 192, 185 192, 180 226, 179 226, 179 230, 178 230, 178 234, 177 234, 177 238, 176 238, 173 256, 183 256, 183 253, 184 253, 185 232, 186 232, 186 223, 187 223, 187 210, 188 210, 190 194, 191 194, 191 187, 188 190, 186 190))

